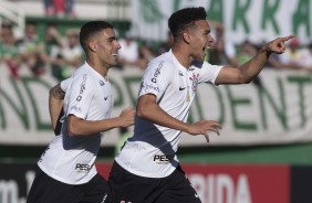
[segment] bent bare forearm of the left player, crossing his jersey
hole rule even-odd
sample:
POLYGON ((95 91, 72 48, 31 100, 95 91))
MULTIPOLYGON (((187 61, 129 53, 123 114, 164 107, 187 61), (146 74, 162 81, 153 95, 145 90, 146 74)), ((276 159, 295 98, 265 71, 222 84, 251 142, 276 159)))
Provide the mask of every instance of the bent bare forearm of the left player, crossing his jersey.
POLYGON ((83 120, 74 116, 67 118, 69 135, 73 137, 93 136, 121 126, 122 122, 118 117, 96 121, 83 120))

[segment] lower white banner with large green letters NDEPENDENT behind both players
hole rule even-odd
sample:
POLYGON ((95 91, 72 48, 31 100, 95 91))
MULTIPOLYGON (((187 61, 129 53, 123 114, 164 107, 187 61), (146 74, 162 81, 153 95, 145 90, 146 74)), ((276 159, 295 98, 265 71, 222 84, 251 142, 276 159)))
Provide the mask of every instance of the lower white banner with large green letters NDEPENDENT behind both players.
MULTIPOLYGON (((54 137, 48 96, 58 82, 21 75, 11 79, 2 68, 0 74, 0 142, 13 145, 46 145, 54 137)), ((111 71, 115 104, 112 117, 123 108, 134 106, 142 72, 134 68, 111 71)), ((261 86, 198 85, 188 122, 218 120, 221 136, 211 133, 209 145, 262 145, 312 141, 312 75, 304 72, 264 68, 261 86)), ((117 142, 117 129, 106 132, 103 146, 117 142)), ((180 146, 206 145, 202 137, 183 133, 180 146)))

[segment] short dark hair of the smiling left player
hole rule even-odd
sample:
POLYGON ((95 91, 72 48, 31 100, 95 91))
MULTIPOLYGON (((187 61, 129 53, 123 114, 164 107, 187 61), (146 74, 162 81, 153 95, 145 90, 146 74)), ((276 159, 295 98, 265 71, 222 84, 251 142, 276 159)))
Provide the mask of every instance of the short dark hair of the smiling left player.
POLYGON ((89 21, 82 25, 80 30, 80 44, 85 53, 87 53, 87 42, 90 38, 105 29, 114 29, 114 26, 105 21, 89 21))

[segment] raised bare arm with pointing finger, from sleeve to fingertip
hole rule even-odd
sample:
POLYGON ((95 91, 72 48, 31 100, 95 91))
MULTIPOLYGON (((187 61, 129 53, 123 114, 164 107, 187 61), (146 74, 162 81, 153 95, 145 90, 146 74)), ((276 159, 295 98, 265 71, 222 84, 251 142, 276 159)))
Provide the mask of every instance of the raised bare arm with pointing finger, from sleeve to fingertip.
POLYGON ((293 35, 278 38, 264 44, 254 57, 240 67, 225 66, 217 79, 216 84, 246 84, 250 83, 263 68, 271 53, 282 54, 285 50, 284 42, 294 38, 293 35))

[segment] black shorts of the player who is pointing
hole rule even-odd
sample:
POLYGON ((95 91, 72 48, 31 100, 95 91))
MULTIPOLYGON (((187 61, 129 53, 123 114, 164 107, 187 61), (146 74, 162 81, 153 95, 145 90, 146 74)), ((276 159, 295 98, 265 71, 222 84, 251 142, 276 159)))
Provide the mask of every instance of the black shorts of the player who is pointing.
POLYGON ((138 177, 114 162, 108 183, 113 203, 200 203, 180 165, 166 178, 138 177))

